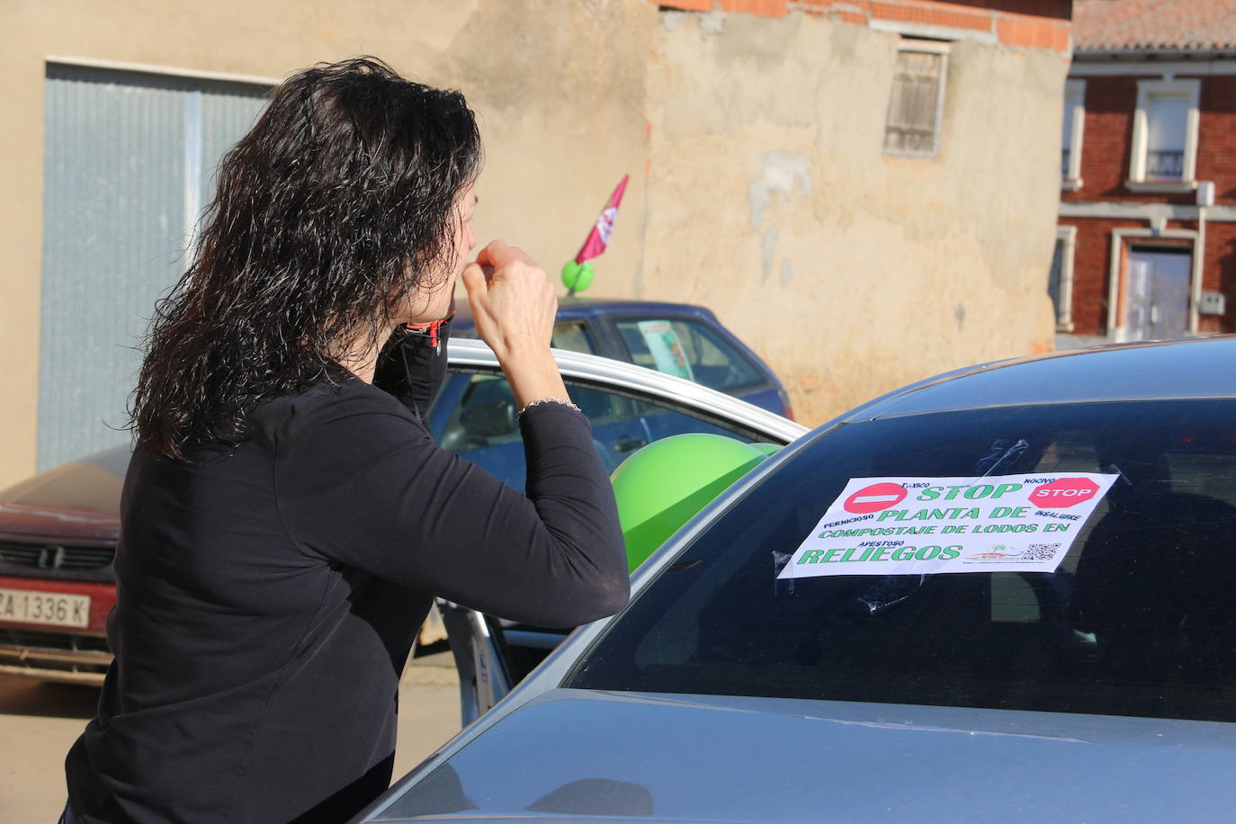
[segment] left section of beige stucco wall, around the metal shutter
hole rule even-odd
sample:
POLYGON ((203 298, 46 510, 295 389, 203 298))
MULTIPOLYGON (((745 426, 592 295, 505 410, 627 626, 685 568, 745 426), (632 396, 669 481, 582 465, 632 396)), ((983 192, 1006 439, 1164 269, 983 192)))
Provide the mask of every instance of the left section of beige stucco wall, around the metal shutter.
POLYGON ((634 288, 656 21, 643 0, 0 0, 0 486, 35 468, 48 56, 283 78, 377 54, 462 89, 477 111, 481 242, 502 237, 556 271, 632 173, 597 269, 607 292, 634 288))

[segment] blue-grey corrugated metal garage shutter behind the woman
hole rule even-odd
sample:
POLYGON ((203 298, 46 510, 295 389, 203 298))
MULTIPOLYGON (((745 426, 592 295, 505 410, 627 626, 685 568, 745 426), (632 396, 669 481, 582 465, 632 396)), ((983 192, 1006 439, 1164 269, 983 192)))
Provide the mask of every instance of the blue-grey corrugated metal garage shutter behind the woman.
POLYGON ((222 153, 265 86, 48 65, 38 468, 121 429, 156 300, 185 267, 222 153))

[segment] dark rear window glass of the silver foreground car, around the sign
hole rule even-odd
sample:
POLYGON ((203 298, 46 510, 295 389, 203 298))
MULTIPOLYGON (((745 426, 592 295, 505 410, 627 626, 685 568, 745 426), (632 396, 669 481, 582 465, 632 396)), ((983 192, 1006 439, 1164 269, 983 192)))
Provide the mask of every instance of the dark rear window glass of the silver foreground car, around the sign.
POLYGON ((564 686, 1234 721, 1234 592, 1236 401, 907 415, 802 448, 564 686), (850 479, 993 469, 1116 478, 1054 572, 777 579, 850 479))

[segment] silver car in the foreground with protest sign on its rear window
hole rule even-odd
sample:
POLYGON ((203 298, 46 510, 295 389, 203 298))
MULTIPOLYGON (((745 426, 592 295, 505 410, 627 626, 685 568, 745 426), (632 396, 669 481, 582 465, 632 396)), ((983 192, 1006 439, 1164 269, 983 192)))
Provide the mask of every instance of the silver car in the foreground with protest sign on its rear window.
POLYGON ((356 820, 1231 820, 1234 364, 1064 352, 821 426, 356 820))

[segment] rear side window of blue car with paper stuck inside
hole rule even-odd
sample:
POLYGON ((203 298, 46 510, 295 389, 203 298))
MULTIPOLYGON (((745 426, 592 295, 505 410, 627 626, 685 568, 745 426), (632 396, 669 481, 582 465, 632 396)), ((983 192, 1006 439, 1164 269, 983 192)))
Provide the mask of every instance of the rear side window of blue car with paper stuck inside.
POLYGON ((716 331, 691 320, 618 320, 614 322, 632 362, 733 392, 765 383, 756 368, 716 331))

